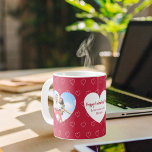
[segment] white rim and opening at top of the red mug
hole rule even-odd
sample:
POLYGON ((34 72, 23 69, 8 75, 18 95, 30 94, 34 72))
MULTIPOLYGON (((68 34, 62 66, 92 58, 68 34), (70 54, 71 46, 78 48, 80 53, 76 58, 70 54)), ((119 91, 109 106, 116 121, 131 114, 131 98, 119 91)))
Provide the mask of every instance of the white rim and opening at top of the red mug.
POLYGON ((102 77, 106 76, 104 72, 96 71, 65 71, 65 72, 55 72, 53 76, 58 77, 68 77, 68 78, 90 78, 90 77, 102 77))

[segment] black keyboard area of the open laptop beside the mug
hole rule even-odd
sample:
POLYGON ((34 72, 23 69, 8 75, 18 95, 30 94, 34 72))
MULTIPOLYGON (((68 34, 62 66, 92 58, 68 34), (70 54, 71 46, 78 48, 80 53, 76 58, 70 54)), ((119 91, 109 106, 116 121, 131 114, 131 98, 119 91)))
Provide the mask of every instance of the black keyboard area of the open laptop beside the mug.
POLYGON ((138 98, 127 96, 115 91, 107 89, 107 103, 121 107, 123 109, 129 108, 144 108, 152 107, 151 102, 147 102, 138 98))

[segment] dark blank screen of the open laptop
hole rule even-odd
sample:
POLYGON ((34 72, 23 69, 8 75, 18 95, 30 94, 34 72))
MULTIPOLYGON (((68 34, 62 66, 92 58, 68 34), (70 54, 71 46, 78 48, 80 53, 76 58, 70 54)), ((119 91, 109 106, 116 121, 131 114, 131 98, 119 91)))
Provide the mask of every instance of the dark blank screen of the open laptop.
POLYGON ((112 86, 152 99, 152 22, 130 22, 112 86))

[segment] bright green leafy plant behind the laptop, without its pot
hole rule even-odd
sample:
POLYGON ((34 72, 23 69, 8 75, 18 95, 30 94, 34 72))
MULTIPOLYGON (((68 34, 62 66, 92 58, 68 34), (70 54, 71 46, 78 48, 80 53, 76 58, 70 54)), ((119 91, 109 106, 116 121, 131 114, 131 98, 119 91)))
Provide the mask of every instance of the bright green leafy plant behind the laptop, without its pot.
MULTIPOLYGON (((67 26, 66 30, 103 34, 110 41, 113 56, 117 54, 119 39, 126 31, 129 21, 152 4, 152 0, 88 0, 91 3, 84 0, 65 1, 82 11, 76 13, 76 17, 81 20, 67 26)), ((152 20, 152 17, 144 19, 152 20)))

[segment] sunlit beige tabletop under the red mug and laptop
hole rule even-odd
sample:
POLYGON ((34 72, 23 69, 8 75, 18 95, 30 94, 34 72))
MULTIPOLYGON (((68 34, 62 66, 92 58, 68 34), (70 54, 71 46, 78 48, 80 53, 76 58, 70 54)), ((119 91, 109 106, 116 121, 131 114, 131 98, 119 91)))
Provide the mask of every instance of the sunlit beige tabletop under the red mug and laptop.
MULTIPOLYGON (((53 70, 0 72, 0 79, 53 70)), ((102 138, 58 139, 53 135, 53 126, 42 118, 39 95, 40 91, 22 94, 0 92, 0 151, 74 152, 76 144, 152 137, 152 115, 147 115, 107 120, 107 134, 102 138)))

